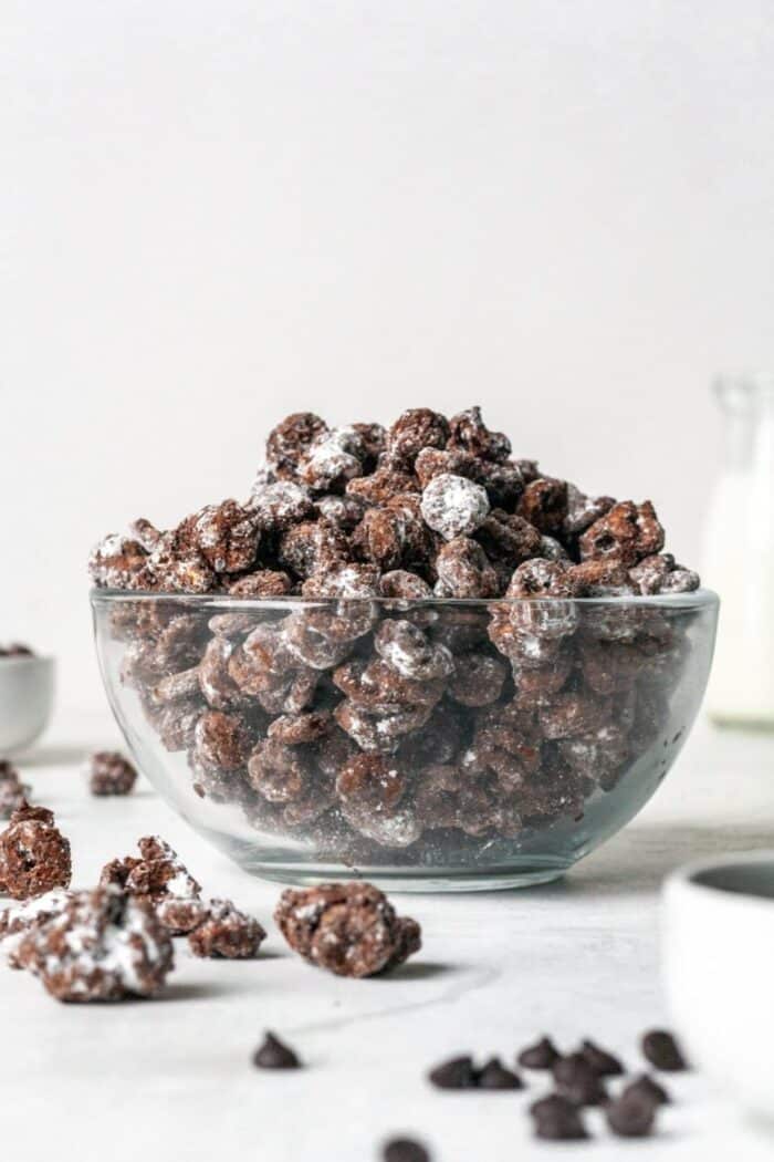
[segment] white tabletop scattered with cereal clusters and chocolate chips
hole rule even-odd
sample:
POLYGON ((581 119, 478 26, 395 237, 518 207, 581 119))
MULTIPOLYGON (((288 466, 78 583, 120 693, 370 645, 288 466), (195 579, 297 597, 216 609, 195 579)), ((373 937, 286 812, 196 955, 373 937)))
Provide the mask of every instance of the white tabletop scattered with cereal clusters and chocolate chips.
POLYGON ((592 1113, 595 1140, 578 1146, 531 1138, 525 1111, 544 1075, 528 1075, 527 1093, 442 1093, 425 1079, 458 1052, 509 1061, 543 1032, 563 1047, 592 1037, 641 1067, 638 1034, 668 1020, 659 884, 688 859, 774 847, 774 739, 697 727, 642 815, 560 884, 398 897, 421 921, 424 949, 372 981, 339 980, 291 954, 270 919, 280 888, 210 848, 146 782, 128 799, 89 798, 82 753, 117 743, 107 717, 71 716, 20 763, 72 841, 74 884, 94 883, 106 860, 158 832, 208 892, 253 911, 269 938, 243 963, 195 960, 179 941, 154 1002, 63 1005, 28 974, 0 969, 3 1156, 370 1162, 397 1132, 424 1140, 435 1162, 774 1156, 774 1138, 696 1075, 668 1079, 677 1100, 656 1138, 613 1139, 592 1113), (308 1068, 255 1070, 265 1028, 308 1068))

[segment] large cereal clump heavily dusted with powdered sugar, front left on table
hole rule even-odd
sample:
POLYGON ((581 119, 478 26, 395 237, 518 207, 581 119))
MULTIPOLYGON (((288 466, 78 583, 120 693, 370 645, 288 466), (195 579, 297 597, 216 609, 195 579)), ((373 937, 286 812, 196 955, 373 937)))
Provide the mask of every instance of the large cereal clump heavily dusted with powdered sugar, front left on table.
POLYGON ((173 968, 172 941, 152 906, 117 888, 73 892, 17 952, 57 1000, 152 997, 173 968))

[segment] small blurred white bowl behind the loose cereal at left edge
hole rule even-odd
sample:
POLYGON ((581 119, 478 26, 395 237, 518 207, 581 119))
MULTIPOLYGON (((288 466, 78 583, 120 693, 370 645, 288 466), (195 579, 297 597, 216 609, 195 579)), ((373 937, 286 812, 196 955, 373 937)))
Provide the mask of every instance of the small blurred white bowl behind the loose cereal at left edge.
POLYGON ((0 658, 0 758, 45 730, 53 706, 53 658, 0 658))

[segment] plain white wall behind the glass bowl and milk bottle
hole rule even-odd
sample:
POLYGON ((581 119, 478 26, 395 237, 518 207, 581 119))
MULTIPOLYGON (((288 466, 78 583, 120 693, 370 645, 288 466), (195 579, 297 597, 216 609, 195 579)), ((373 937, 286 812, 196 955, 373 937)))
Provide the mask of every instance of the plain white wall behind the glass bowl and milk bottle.
POLYGON ((0 640, 97 705, 85 558, 267 430, 484 406, 692 564, 774 363, 769 0, 2 0, 0 640))

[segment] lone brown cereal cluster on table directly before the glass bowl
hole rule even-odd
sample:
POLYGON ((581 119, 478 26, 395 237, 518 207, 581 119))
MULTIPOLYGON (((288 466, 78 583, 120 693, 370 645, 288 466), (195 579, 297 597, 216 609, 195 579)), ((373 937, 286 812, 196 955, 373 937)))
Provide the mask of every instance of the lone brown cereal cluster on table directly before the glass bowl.
POLYGON ((288 888, 274 919, 290 947, 337 976, 374 976, 403 964, 421 944, 420 927, 396 916, 369 883, 288 888))

